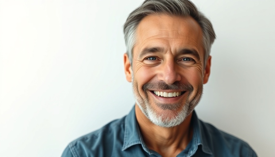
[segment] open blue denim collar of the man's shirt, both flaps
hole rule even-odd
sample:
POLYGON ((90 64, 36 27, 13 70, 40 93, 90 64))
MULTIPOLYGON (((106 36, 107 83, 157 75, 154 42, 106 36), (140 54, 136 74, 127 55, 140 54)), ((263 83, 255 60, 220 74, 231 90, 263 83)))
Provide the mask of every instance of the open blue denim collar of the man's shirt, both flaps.
MULTIPOLYGON (((207 144, 207 135, 205 134, 204 127, 201 124, 202 122, 198 119, 195 110, 192 114, 191 124, 193 124, 193 137, 190 144, 194 151, 197 150, 198 145, 202 145, 202 151, 207 154, 212 154, 208 144, 207 144)), ((126 150, 127 148, 135 145, 141 144, 143 149, 151 154, 148 147, 142 140, 142 136, 139 130, 138 122, 136 119, 135 107, 132 108, 130 113, 125 118, 125 132, 124 132, 124 142, 122 146, 122 151, 126 150)))

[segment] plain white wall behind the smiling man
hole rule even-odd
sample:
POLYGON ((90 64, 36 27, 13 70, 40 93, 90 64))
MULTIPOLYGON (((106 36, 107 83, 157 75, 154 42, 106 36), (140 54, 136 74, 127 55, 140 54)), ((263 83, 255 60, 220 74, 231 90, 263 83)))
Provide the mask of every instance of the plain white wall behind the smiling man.
MULTIPOLYGON (((134 105, 122 26, 142 0, 0 0, 0 156, 60 156, 134 105)), ((194 0, 213 23, 198 116, 274 157, 275 1, 194 0)))

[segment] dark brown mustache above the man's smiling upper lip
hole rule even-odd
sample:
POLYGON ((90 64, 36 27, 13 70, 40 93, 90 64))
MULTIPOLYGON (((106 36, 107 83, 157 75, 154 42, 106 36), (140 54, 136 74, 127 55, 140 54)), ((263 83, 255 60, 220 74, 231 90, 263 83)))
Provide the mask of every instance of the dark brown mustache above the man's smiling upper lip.
POLYGON ((146 91, 148 89, 154 89, 154 90, 180 90, 180 91, 193 91, 193 86, 188 82, 179 82, 176 81, 171 85, 166 84, 163 81, 159 82, 147 82, 142 86, 143 91, 146 91))

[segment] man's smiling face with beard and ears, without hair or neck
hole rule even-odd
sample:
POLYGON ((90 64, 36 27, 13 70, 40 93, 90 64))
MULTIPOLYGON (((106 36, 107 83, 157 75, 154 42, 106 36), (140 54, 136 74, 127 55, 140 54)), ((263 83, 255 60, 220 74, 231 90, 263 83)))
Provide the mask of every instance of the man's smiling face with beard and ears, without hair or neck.
POLYGON ((145 116, 162 127, 179 125, 200 100, 210 74, 203 65, 202 30, 192 17, 149 15, 137 28, 126 78, 145 116))

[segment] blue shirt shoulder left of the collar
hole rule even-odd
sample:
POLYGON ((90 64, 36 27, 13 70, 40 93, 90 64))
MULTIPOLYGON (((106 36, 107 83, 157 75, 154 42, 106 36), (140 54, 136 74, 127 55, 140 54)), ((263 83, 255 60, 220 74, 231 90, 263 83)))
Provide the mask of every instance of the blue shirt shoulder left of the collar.
POLYGON ((102 128, 72 141, 64 150, 63 156, 103 156, 103 153, 111 152, 114 145, 123 144, 124 121, 125 117, 111 121, 102 128))

